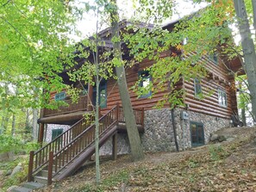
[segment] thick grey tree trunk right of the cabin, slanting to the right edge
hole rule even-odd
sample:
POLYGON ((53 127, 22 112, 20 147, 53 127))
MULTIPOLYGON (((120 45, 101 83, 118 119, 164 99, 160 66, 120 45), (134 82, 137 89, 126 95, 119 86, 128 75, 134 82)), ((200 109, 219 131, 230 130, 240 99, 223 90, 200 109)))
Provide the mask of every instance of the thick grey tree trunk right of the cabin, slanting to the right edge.
POLYGON ((247 10, 244 0, 234 0, 234 8, 238 17, 238 26, 241 36, 241 46, 244 53, 244 69, 247 73, 249 90, 251 94, 253 116, 256 116, 256 54, 251 38, 252 34, 247 19, 247 10))

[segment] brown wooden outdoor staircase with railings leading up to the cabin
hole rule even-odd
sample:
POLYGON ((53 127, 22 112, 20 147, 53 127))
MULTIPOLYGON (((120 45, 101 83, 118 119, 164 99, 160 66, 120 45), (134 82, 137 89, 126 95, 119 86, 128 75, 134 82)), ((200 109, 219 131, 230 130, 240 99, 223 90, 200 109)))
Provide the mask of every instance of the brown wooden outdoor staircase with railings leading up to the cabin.
MULTIPOLYGON (((143 127, 144 110, 134 109, 136 123, 143 127)), ((125 123, 122 107, 116 106, 99 119, 99 146, 125 123)), ((51 184, 71 176, 95 153, 94 119, 81 119, 37 152, 30 152, 28 182, 51 184)))

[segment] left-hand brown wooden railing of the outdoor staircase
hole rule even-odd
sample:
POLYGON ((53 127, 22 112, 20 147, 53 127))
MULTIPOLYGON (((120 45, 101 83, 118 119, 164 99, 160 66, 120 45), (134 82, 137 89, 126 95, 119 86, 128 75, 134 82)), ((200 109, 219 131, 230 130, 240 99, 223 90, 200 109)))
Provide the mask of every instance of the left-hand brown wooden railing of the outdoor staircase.
MULTIPOLYGON (((74 125, 72 125, 72 127, 67 129, 64 133, 59 134, 58 137, 53 139, 46 146, 43 146, 41 149, 39 149, 38 151, 36 151, 34 153, 30 153, 30 155, 33 155, 34 162, 29 164, 30 166, 32 166, 32 168, 28 167, 28 170, 31 169, 32 172, 28 173, 28 174, 34 174, 37 170, 40 170, 45 164, 48 163, 48 160, 49 160, 48 153, 49 152, 53 152, 53 154, 58 152, 61 148, 66 146, 66 144, 68 142, 70 142, 74 138, 74 136, 78 135, 79 133, 81 133, 83 131, 84 125, 85 125, 85 128, 90 127, 92 120, 93 120, 93 117, 91 117, 90 121, 86 121, 85 117, 82 118, 81 120, 76 122, 74 125), (80 123, 81 123, 82 127, 79 128, 80 130, 78 130, 78 133, 76 133, 76 134, 72 133, 74 131, 74 129, 80 123), (83 123, 85 123, 85 124, 83 124, 83 123)), ((28 177, 32 177, 32 176, 28 176, 28 177)))

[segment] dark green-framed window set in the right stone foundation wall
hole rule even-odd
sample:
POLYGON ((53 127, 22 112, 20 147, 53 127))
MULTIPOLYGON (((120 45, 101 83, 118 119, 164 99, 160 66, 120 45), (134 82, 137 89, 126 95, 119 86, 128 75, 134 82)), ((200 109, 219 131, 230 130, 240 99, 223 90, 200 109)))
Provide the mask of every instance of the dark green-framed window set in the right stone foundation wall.
POLYGON ((191 146, 204 145, 203 123, 190 121, 191 146))

